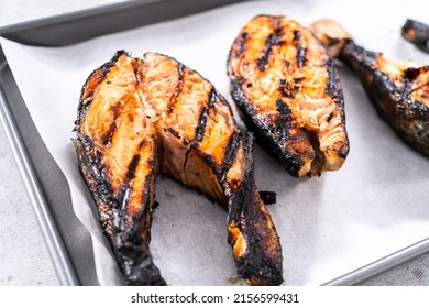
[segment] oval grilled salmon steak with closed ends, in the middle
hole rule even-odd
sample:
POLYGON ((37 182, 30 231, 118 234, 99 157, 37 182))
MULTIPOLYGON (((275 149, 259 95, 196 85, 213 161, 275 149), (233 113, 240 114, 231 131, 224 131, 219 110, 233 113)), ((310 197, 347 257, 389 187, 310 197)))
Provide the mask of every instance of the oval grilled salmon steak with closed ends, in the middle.
POLYGON ((297 21, 257 15, 230 51, 231 95, 248 127, 293 176, 339 169, 349 153, 333 61, 297 21))

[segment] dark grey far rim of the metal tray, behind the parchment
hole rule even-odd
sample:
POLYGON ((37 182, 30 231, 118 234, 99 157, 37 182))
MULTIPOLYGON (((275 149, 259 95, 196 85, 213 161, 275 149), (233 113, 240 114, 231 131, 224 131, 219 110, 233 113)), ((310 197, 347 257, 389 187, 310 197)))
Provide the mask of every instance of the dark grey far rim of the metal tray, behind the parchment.
POLYGON ((242 1, 132 0, 3 26, 0 36, 26 45, 65 46, 242 1))

